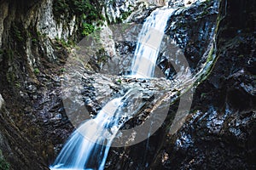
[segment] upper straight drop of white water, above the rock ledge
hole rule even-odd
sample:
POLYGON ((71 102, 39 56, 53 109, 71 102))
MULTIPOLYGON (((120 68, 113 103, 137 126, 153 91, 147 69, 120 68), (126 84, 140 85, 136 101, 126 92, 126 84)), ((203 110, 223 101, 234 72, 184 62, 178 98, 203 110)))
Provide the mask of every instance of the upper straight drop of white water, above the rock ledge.
POLYGON ((157 8, 146 19, 139 34, 131 65, 131 77, 154 77, 155 61, 173 8, 157 8))

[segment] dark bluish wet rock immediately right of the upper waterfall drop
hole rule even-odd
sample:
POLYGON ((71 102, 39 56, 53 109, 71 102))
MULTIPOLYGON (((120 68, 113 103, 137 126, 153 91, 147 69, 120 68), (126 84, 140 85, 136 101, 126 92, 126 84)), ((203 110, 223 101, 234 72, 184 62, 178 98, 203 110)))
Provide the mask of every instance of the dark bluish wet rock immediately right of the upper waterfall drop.
MULTIPOLYGON (((174 40, 182 49, 184 56, 189 62, 191 71, 194 71, 200 63, 206 61, 202 56, 207 52, 208 44, 212 41, 214 28, 218 15, 218 1, 196 1, 187 8, 179 8, 168 21, 166 35, 174 40)), ((167 42, 166 44, 171 44, 167 42)), ((170 47, 167 46, 167 49, 170 47)), ((161 52, 160 67, 170 75, 173 71, 170 59, 173 51, 161 52)), ((175 59, 175 58, 174 58, 175 59)), ((178 61, 178 59, 175 59, 178 61)), ((176 61, 176 62, 177 62, 176 61)), ((172 75, 172 74, 171 74, 172 75)), ((170 76, 169 76, 170 77, 170 76)))

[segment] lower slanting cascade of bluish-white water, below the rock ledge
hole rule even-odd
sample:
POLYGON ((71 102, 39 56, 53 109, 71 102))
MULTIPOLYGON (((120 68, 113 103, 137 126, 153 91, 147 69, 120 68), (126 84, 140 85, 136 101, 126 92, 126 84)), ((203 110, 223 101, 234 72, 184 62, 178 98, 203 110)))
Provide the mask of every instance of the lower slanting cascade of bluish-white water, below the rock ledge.
POLYGON ((143 103, 134 105, 128 113, 123 110, 124 106, 142 97, 137 89, 131 89, 123 97, 108 102, 94 119, 84 122, 72 134, 50 169, 103 169, 119 127, 134 114, 131 110, 137 110, 143 103))

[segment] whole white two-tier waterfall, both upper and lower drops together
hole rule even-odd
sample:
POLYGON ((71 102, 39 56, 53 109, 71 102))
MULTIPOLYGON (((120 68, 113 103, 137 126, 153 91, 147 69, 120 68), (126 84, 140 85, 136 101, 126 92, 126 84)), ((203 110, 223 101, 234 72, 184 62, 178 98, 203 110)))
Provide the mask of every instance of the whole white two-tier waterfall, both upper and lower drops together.
MULTIPOLYGON (((145 20, 139 34, 131 65, 131 77, 153 77, 154 66, 172 8, 158 8, 145 20)), ((51 170, 104 169, 113 139, 136 112, 143 107, 143 93, 136 88, 112 99, 97 116, 84 122, 73 132, 57 156, 51 170), (136 100, 136 101, 135 101, 136 100)))

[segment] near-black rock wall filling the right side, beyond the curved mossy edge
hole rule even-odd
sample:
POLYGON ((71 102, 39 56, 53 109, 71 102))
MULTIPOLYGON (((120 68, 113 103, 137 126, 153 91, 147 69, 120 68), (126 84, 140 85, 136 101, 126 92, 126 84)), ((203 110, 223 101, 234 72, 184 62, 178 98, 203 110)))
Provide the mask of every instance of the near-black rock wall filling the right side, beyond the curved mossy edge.
POLYGON ((221 1, 217 61, 196 88, 183 127, 152 164, 160 169, 255 168, 255 1, 221 1))

